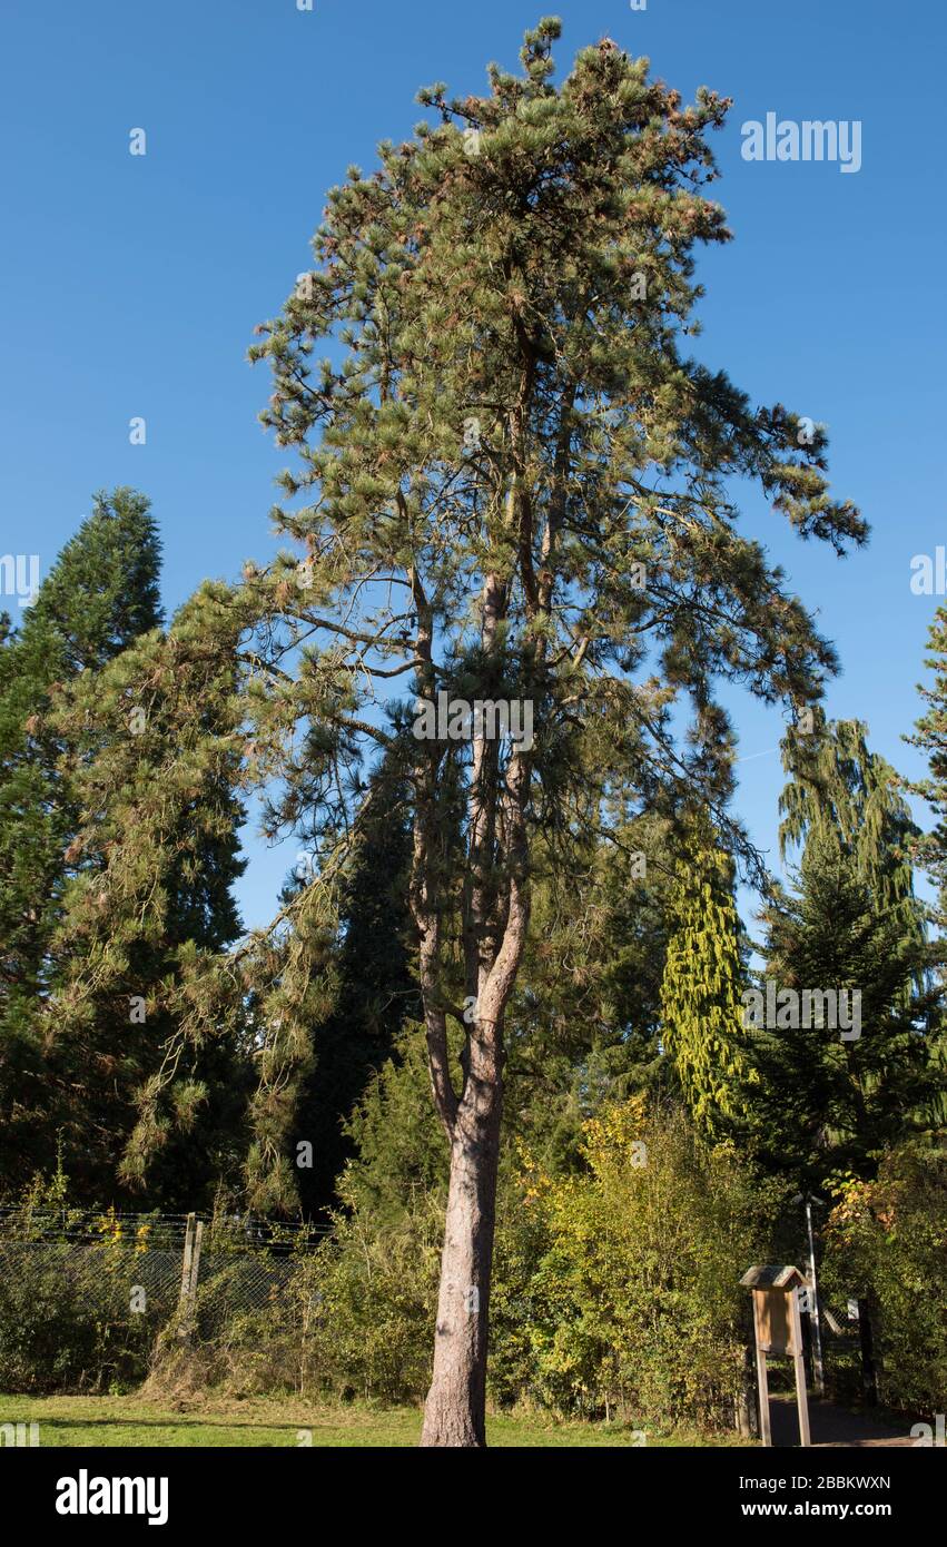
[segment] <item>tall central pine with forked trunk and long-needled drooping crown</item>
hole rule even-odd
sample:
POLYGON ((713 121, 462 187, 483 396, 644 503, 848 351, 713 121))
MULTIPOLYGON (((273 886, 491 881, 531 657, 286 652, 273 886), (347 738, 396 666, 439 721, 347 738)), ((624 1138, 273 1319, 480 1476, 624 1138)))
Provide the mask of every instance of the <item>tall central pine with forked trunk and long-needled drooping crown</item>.
MULTIPOLYGON (((294 907, 322 908, 326 928, 340 851, 370 809, 362 756, 398 735, 379 702, 399 682, 422 701, 409 897, 450 1157, 433 1446, 484 1443, 504 1019, 537 835, 585 842, 616 792, 638 815, 673 789, 737 846, 715 678, 805 702, 834 654, 740 534, 733 480, 758 480, 839 552, 865 538, 826 492, 825 438, 800 446, 797 416, 755 408, 679 347, 695 246, 727 237, 704 193, 726 102, 703 90, 682 107, 610 40, 556 87, 559 31, 529 32, 521 74, 492 67, 487 96, 424 91, 438 122, 330 193, 314 269, 255 350, 275 377, 266 422, 300 453, 277 521, 306 558, 248 568, 231 599, 258 619, 248 777, 279 769, 288 825, 319 814, 319 885, 294 907)), ((258 1154, 277 1193, 289 1179, 272 1135, 311 1055, 313 975, 285 924, 255 942, 269 975, 258 1154)), ((227 970, 207 961, 184 1033, 207 1024, 227 970)))

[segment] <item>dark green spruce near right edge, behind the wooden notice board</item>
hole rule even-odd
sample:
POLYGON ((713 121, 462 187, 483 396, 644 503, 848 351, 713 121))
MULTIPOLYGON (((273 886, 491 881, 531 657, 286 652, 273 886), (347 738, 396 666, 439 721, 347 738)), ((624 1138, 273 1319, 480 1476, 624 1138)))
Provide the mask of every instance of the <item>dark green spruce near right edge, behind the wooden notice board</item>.
POLYGON ((805 1187, 873 1176, 880 1151, 930 1123, 936 996, 911 990, 927 945, 905 933, 897 902, 877 905, 831 828, 809 838, 798 888, 777 888, 763 919, 760 993, 772 984, 777 1010, 757 1043, 757 1148, 805 1187))

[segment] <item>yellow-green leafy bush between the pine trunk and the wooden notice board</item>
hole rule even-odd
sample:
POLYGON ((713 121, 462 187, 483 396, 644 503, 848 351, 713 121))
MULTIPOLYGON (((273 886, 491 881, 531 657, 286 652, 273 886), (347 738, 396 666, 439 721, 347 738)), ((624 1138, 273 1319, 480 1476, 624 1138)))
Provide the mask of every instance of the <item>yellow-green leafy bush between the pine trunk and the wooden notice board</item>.
POLYGON ((525 1157, 504 1210, 494 1306, 494 1389, 569 1414, 672 1428, 732 1426, 744 1385, 749 1298, 781 1188, 682 1114, 642 1098, 585 1125, 582 1174, 525 1157))

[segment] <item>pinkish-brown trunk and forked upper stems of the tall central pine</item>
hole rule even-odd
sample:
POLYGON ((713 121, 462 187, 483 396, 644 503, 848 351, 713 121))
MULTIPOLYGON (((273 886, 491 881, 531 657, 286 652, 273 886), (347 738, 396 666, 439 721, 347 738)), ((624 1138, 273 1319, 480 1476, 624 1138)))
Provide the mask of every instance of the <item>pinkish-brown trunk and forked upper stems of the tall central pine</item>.
MULTIPOLYGON (((512 507, 512 498, 511 498, 512 507)), ((481 644, 491 654, 508 602, 498 575, 487 574, 481 597, 481 644)), ((422 640, 422 647, 430 644, 422 640)), ((424 657, 424 648, 418 654, 424 657)), ((486 1445, 486 1368, 497 1211, 500 1117, 503 1109, 503 1015, 529 925, 526 800, 528 760, 512 752, 503 772, 500 749, 483 727, 474 735, 467 800, 467 873, 463 886, 463 942, 467 996, 475 1019, 466 1027, 463 1089, 452 1088, 446 1006, 441 993, 441 896, 436 882, 436 763, 418 766, 413 914, 419 934, 421 990, 435 1103, 450 1143, 447 1219, 435 1330, 433 1375, 424 1406, 421 1445, 486 1445)), ((452 1012, 456 1013, 456 1012, 452 1012)))

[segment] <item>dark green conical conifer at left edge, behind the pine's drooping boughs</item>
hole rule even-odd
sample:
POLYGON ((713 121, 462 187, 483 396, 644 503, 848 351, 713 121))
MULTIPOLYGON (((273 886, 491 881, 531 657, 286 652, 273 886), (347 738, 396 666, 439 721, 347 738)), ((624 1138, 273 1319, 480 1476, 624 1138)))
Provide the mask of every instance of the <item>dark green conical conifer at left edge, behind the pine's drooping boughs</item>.
POLYGON ((73 873, 79 821, 63 743, 50 721, 57 690, 96 671, 161 622, 161 545, 132 489, 94 497, 22 625, 0 647, 0 1109, 2 1185, 56 1160, 42 1007, 51 941, 73 873))

